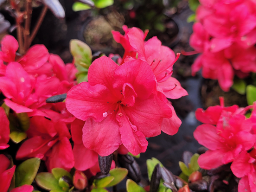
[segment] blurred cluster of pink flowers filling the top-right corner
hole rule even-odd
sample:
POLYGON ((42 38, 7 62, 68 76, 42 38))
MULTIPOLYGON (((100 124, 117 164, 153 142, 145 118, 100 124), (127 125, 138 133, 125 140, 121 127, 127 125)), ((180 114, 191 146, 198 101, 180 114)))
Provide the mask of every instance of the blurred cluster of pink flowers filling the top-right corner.
POLYGON ((218 79, 228 91, 234 75, 256 72, 256 3, 254 0, 199 0, 197 22, 189 43, 201 53, 192 75, 202 68, 207 79, 218 79))

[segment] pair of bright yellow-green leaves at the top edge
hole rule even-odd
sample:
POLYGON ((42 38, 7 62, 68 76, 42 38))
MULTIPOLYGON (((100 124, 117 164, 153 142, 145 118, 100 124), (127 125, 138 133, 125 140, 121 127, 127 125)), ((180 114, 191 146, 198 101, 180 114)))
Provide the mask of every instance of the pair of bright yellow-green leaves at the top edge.
MULTIPOLYGON (((103 9, 105 7, 113 5, 114 0, 93 0, 93 2, 96 8, 103 9)), ((74 12, 78 12, 78 11, 91 9, 91 7, 84 3, 76 2, 73 4, 72 9, 74 12)))

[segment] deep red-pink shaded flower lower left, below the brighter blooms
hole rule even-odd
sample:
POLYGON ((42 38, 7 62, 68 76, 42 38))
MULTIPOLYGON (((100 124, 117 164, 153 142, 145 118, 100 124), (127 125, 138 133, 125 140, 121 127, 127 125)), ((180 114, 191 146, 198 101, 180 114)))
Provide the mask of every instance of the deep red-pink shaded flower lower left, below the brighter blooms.
POLYGON ((74 156, 69 139, 71 135, 64 122, 52 122, 43 116, 33 116, 26 140, 16 154, 18 160, 38 157, 46 160, 49 171, 60 167, 70 171, 74 156))

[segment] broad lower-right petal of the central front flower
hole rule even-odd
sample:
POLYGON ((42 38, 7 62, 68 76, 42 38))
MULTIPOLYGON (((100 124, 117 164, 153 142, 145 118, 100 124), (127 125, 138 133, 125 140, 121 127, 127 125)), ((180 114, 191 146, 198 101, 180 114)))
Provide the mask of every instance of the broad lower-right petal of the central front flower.
POLYGON ((171 118, 172 110, 161 101, 155 94, 148 99, 136 99, 134 106, 123 107, 130 122, 136 125, 138 131, 145 137, 154 137, 161 134, 161 123, 163 118, 171 118))

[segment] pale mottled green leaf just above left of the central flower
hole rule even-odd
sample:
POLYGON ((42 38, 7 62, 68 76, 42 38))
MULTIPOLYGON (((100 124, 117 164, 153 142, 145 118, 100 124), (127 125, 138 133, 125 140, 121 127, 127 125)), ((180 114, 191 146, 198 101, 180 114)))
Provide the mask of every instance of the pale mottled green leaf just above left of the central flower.
MULTIPOLYGON (((75 59, 75 64, 77 66, 82 66, 84 68, 89 68, 92 62, 92 50, 83 41, 77 39, 72 39, 70 41, 70 52, 75 59)), ((78 69, 79 70, 79 69, 78 69)))

